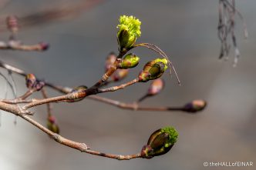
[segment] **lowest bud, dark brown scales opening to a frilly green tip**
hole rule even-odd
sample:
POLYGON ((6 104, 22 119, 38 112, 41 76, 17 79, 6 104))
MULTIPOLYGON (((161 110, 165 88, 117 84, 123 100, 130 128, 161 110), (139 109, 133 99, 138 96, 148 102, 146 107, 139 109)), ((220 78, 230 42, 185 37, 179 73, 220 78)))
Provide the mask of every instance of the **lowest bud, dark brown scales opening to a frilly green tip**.
POLYGON ((174 143, 177 142, 178 132, 173 127, 160 128, 150 135, 147 145, 141 150, 142 158, 153 158, 170 151, 174 143))

